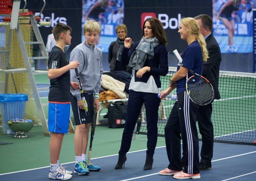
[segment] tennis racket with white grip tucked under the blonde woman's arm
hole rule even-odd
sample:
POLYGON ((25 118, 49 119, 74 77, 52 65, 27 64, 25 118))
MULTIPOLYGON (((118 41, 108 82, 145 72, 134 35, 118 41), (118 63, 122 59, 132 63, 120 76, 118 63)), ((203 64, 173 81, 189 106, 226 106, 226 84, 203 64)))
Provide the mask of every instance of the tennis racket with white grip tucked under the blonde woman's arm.
MULTIPOLYGON (((176 55, 181 64, 182 58, 178 51, 174 50, 173 53, 176 55)), ((214 98, 214 90, 212 84, 206 78, 196 74, 192 70, 188 71, 193 74, 189 78, 188 74, 186 76, 186 90, 189 98, 197 105, 208 105, 212 103, 214 98)))

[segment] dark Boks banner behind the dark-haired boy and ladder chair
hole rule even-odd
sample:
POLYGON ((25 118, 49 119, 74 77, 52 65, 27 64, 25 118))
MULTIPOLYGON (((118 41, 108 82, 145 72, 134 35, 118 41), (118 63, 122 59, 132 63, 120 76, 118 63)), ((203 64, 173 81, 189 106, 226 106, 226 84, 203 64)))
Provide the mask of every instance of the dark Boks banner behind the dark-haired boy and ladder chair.
MULTIPOLYGON (((21 1, 22 2, 22 1, 21 1)), ((21 3, 23 7, 24 3, 21 3)), ((38 15, 43 7, 43 1, 30 0, 27 2, 28 11, 32 11, 35 15, 38 15)), ((39 26, 40 33, 46 45, 47 37, 52 33, 52 28, 57 23, 63 23, 69 25, 72 28, 71 33, 71 45, 69 50, 72 50, 76 45, 81 43, 81 37, 77 36, 77 33, 81 32, 81 16, 82 16, 82 0, 70 1, 70 0, 54 0, 46 1, 46 5, 43 13, 41 14, 40 21, 48 21, 50 18, 51 25, 39 26), (45 18, 45 19, 44 19, 45 18)))

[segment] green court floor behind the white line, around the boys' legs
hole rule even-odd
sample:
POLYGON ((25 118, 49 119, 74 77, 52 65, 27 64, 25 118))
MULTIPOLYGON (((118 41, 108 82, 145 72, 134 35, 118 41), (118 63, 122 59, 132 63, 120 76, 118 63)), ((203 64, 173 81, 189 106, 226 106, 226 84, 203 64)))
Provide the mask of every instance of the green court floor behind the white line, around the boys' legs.
MULTIPOLYGON (((122 133, 123 128, 112 129, 106 126, 96 126, 92 145, 92 158, 118 154, 122 133)), ((13 143, 0 145, 0 174, 50 165, 49 142, 51 137, 44 136, 41 126, 33 127, 27 135, 28 138, 14 138, 13 135, 3 134, 3 130, 0 128, 0 142, 13 143)), ((132 140, 130 151, 147 149, 147 136, 139 134, 136 137, 138 139, 132 140)), ((163 137, 158 137, 156 146, 165 146, 163 137)), ((68 133, 65 134, 63 139, 60 162, 69 163, 74 161, 74 134, 68 133)))

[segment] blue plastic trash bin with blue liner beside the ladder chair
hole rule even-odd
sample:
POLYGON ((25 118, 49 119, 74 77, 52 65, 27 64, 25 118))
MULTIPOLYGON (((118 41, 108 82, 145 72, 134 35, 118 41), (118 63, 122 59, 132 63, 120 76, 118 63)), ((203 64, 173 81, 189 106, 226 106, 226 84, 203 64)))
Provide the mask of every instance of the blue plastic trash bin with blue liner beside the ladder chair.
POLYGON ((16 134, 7 124, 10 119, 24 119, 27 94, 0 94, 3 134, 16 134))

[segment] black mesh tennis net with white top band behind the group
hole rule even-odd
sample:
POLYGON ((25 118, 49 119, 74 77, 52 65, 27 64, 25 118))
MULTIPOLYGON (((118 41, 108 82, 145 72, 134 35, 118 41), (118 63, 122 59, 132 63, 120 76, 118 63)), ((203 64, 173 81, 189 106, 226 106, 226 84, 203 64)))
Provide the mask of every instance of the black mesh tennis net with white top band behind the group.
MULTIPOLYGON (((176 68, 169 67, 167 76, 161 77, 162 90, 169 85, 169 78, 176 68)), ((212 103, 214 141, 236 144, 256 143, 256 74, 220 71, 221 98, 212 103)), ((172 91, 176 94, 176 90, 172 91)), ((162 100, 158 113, 158 136, 164 137, 164 127, 175 101, 162 100)), ((141 109, 142 123, 139 134, 147 134, 145 109, 141 109)), ((202 138, 198 131, 199 140, 202 138)))

